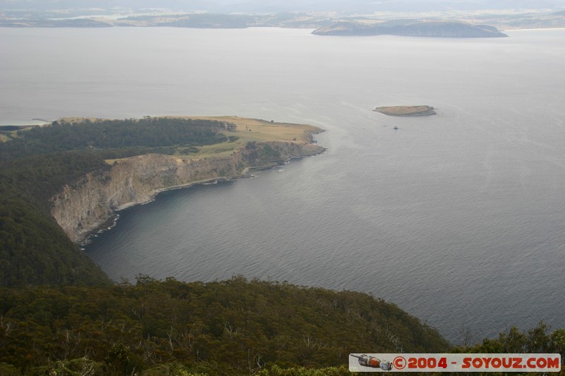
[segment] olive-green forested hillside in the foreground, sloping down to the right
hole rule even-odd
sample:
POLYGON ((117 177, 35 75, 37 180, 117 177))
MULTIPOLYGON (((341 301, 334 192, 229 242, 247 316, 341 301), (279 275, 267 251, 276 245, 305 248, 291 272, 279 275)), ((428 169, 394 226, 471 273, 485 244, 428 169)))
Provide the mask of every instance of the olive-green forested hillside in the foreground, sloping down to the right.
POLYGON ((97 375, 165 366, 249 375, 273 365, 338 367, 361 349, 448 349, 435 329, 396 305, 352 291, 243 277, 205 284, 145 276, 135 286, 0 291, 0 361, 30 374, 89 363, 97 375))

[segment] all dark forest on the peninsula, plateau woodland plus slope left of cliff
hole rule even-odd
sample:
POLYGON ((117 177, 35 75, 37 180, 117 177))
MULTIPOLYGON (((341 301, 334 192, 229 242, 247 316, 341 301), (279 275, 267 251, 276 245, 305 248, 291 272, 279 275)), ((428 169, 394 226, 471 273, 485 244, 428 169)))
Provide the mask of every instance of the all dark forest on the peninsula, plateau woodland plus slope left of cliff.
POLYGON ((55 121, 14 131, 0 142, 0 286, 106 284, 106 275, 71 243, 50 213, 65 184, 109 169, 105 158, 172 154, 227 140, 234 124, 150 118, 55 121))

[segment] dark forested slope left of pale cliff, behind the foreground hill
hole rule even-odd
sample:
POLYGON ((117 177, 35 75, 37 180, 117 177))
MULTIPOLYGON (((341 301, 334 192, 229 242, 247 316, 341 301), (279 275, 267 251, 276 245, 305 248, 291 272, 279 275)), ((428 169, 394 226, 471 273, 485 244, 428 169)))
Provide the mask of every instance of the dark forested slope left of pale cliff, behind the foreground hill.
POLYGON ((109 283, 55 222, 49 198, 84 171, 109 166, 65 152, 0 162, 0 285, 109 283))

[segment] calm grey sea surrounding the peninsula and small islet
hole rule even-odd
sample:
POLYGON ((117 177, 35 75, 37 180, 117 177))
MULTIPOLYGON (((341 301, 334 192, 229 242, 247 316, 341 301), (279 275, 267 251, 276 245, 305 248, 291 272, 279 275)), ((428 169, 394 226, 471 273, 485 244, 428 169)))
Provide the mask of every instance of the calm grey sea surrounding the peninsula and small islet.
POLYGON ((324 154, 121 212, 87 247, 114 279, 363 291, 454 343, 463 324, 477 339, 565 327, 565 30, 310 32, 0 29, 0 123, 189 114, 326 129, 324 154), (396 104, 438 115, 371 111, 396 104))

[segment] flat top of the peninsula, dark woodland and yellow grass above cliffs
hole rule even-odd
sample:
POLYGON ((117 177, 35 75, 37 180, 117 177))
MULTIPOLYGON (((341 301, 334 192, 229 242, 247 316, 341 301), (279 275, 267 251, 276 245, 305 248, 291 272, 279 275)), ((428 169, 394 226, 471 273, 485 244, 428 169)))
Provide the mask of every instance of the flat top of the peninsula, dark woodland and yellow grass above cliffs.
MULTIPOLYGON (((105 156, 226 155, 247 142, 312 142, 321 128, 238 116, 145 116, 143 119, 66 117, 46 126, 0 129, 0 161, 75 150, 105 156)), ((110 158, 107 158, 110 159, 110 158)))

